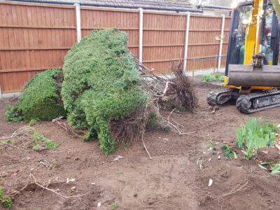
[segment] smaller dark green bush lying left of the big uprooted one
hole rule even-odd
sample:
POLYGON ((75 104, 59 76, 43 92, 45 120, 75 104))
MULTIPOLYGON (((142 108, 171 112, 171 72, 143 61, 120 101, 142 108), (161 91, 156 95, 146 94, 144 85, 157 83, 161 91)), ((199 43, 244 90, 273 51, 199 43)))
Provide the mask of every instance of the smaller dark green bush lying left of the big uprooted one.
POLYGON ((28 81, 27 87, 18 99, 18 104, 13 107, 7 106, 6 120, 34 123, 36 120, 52 120, 65 116, 60 97, 62 78, 60 69, 36 73, 28 81))

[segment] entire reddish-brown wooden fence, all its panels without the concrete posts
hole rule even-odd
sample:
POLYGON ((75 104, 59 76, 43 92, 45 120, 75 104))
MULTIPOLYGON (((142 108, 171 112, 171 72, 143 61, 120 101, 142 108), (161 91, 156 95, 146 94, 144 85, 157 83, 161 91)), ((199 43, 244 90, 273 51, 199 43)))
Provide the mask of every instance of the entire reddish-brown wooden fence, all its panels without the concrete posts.
MULTIPOLYGON (((116 27, 128 34, 127 47, 139 57, 139 17, 139 10, 80 6, 81 36, 92 29, 116 27)), ((186 14, 144 10, 144 64, 169 73, 170 60, 179 60, 180 55, 183 59, 186 21, 186 14)), ((220 41, 215 37, 221 27, 221 17, 190 15, 186 71, 217 66, 220 41)), ((226 17, 225 40, 229 33, 230 18, 226 17)), ((36 72, 62 67, 67 50, 76 41, 75 6, 0 1, 0 96, 20 92, 36 72)), ((224 41, 223 56, 227 48, 224 41)), ((225 57, 221 65, 225 66, 225 57)))

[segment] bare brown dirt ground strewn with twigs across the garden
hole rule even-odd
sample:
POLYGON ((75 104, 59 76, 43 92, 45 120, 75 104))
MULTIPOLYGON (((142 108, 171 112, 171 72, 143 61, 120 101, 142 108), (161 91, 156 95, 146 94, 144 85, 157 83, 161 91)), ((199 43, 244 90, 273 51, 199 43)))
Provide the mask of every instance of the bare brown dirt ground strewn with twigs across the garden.
MULTIPOLYGON (((234 142, 234 128, 248 116, 233 105, 211 113, 207 93, 218 88, 221 86, 217 83, 202 83, 196 78, 200 113, 172 114, 184 126, 184 132, 194 134, 145 133, 152 160, 141 141, 106 157, 99 141, 85 143, 69 137, 54 123, 38 122, 35 130, 59 146, 53 151, 34 151, 30 142, 16 139, 12 145, 18 148, 1 145, 3 193, 14 194, 12 209, 113 209, 110 205, 114 203, 116 209, 280 209, 278 174, 260 169, 255 160, 245 160, 239 150, 237 160, 223 155, 223 141, 234 142), (210 140, 217 144, 215 155, 207 151, 210 140), (19 149, 23 146, 25 151, 19 149), (118 155, 123 159, 115 161, 118 155), (30 184, 34 179, 64 197, 30 184), (75 181, 66 183, 66 179, 75 181), (210 187, 209 179, 213 180, 210 187), (101 206, 97 207, 99 202, 101 206)), ((7 104, 15 101, 0 102, 0 138, 26 125, 6 122, 7 104)), ((269 109, 250 117, 280 123, 279 111, 269 109)))

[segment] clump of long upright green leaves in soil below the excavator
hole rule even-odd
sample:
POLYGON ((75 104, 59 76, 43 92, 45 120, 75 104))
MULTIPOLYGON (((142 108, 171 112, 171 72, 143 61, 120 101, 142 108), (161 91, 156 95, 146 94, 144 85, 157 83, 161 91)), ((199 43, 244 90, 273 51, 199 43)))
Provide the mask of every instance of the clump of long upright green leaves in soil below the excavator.
POLYGON ((239 148, 246 146, 246 151, 241 151, 246 155, 247 160, 253 157, 253 154, 258 151, 258 148, 265 146, 273 146, 276 139, 275 133, 272 132, 271 123, 266 123, 262 118, 248 119, 246 125, 242 125, 237 132, 236 144, 239 148))

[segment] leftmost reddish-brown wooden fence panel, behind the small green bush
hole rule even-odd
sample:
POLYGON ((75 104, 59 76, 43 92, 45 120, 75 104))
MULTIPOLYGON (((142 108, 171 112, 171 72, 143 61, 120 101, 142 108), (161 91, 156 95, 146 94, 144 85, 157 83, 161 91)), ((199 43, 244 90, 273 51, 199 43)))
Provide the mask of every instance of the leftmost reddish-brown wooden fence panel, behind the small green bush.
POLYGON ((0 3, 1 91, 18 92, 40 70, 61 67, 76 42, 73 6, 0 3))

